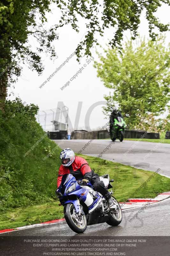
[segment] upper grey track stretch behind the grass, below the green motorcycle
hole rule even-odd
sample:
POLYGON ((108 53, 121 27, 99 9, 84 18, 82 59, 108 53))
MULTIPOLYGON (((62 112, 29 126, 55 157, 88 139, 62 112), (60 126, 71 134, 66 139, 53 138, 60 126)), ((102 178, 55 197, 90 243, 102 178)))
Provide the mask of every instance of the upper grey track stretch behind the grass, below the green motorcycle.
POLYGON ((98 156, 102 154, 102 159, 126 164, 138 169, 155 172, 160 168, 159 174, 170 178, 170 144, 111 140, 93 140, 84 150, 85 144, 90 140, 54 140, 60 144, 60 148, 71 148, 76 153, 89 156, 98 156), (110 146, 109 146, 110 144, 110 146), (105 148, 109 148, 108 150, 105 148), (81 151, 82 150, 82 151, 81 151), (80 152, 81 151, 81 152, 80 152))

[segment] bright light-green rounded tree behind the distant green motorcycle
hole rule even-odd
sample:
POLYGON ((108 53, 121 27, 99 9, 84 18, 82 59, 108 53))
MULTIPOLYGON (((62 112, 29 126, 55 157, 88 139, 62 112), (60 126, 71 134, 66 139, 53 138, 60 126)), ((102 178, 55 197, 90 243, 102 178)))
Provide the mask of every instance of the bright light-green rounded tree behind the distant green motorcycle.
POLYGON ((113 89, 105 96, 104 110, 108 115, 119 106, 129 129, 160 131, 169 118, 161 122, 154 116, 164 113, 170 100, 170 45, 165 48, 163 37, 155 42, 138 38, 135 43, 127 41, 122 53, 108 48, 106 56, 99 54, 100 62, 95 62, 98 77, 113 89))

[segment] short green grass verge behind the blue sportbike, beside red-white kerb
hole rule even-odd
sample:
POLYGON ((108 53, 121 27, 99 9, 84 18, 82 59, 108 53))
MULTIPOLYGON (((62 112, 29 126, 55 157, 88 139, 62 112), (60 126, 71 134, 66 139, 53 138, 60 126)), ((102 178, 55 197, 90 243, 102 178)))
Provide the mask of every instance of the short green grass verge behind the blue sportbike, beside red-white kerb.
MULTIPOLYGON (((119 202, 128 198, 154 198, 161 192, 170 191, 170 179, 131 166, 113 163, 97 157, 84 157, 90 167, 99 175, 108 173, 112 183, 114 196, 119 202), (152 176, 153 175, 153 176, 152 176), (146 182, 148 179, 150 180, 146 182), (138 190, 137 190, 138 189, 138 190), (137 192, 136 192, 137 190, 137 192)), ((156 170, 155 170, 156 171, 156 170)), ((16 228, 63 217, 63 206, 51 199, 49 203, 27 207, 12 208, 1 212, 0 229, 16 228)))

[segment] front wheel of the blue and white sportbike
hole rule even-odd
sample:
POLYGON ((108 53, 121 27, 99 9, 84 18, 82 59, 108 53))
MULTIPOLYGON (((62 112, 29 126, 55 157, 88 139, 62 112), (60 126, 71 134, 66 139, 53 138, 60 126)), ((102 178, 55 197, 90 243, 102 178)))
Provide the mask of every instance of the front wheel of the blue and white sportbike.
POLYGON ((64 205, 64 217, 69 227, 76 233, 83 233, 87 228, 87 219, 84 215, 78 216, 72 203, 64 205))

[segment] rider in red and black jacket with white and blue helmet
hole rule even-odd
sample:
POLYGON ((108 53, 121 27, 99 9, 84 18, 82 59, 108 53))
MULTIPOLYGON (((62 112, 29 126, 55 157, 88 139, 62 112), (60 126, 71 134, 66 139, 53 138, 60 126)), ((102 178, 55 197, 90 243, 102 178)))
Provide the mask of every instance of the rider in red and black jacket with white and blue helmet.
POLYGON ((106 198, 108 207, 112 207, 113 199, 110 193, 103 181, 100 181, 99 175, 91 170, 84 158, 75 156, 72 149, 65 148, 60 153, 60 159, 62 164, 58 172, 57 187, 61 184, 62 176, 71 173, 76 180, 82 180, 84 184, 91 181, 93 189, 106 198))

